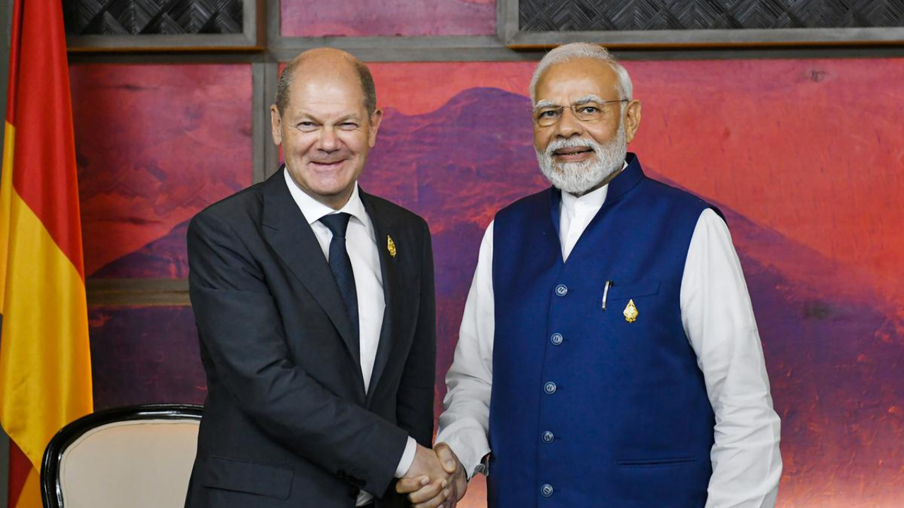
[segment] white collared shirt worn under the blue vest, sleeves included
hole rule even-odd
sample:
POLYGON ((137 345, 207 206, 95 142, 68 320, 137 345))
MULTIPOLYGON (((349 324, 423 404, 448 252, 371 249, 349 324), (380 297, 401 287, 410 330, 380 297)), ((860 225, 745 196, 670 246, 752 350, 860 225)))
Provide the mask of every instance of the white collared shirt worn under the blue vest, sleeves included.
MULTIPOLYGON (((606 201, 608 186, 576 197, 562 193, 562 259, 606 201)), ((455 359, 446 376, 448 392, 437 442, 452 447, 468 474, 484 472, 490 452, 489 409, 493 384, 493 223, 480 245, 474 281, 455 359)), ((757 323, 738 255, 725 222, 702 212, 693 231, 681 287, 681 310, 697 364, 715 413, 712 476, 706 508, 775 506, 782 459, 779 420, 772 409, 757 323)))

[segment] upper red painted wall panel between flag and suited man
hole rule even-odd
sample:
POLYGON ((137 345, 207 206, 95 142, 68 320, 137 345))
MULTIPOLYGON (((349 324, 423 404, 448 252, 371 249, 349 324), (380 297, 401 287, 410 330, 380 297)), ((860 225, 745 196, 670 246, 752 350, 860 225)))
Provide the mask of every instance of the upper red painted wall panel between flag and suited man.
POLYGON ((184 240, 154 242, 250 185, 250 64, 72 65, 70 80, 85 274, 187 277, 184 240), (135 253, 152 262, 120 262, 135 253))

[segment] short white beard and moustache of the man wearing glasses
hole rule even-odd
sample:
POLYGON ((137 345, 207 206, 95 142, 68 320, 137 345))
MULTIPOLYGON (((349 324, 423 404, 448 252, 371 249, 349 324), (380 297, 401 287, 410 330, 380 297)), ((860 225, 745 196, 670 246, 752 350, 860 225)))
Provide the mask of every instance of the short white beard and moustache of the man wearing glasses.
POLYGON ((546 179, 552 185, 566 193, 581 195, 598 186, 610 175, 617 173, 625 163, 627 155, 627 141, 625 136, 625 124, 619 122, 616 137, 608 141, 606 145, 600 145, 593 139, 584 137, 572 137, 569 139, 556 139, 546 147, 545 152, 537 152, 537 161, 546 179), (587 146, 592 148, 596 157, 589 161, 556 164, 552 160, 552 153, 561 148, 577 148, 587 146))

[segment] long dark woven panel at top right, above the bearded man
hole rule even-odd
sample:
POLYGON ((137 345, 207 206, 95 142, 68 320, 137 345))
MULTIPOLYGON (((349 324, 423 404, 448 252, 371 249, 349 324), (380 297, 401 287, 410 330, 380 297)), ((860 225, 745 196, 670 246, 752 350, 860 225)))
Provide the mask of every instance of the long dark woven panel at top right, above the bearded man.
POLYGON ((904 0, 520 0, 523 32, 904 26, 904 0))

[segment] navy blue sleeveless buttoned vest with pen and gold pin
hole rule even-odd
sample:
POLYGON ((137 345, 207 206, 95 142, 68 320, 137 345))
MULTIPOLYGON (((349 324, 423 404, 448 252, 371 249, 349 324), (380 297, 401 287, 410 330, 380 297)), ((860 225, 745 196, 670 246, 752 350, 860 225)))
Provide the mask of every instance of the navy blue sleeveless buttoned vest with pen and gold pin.
POLYGON ((711 206, 627 163, 567 263, 558 191, 496 214, 490 508, 706 503, 715 421, 679 297, 711 206))

